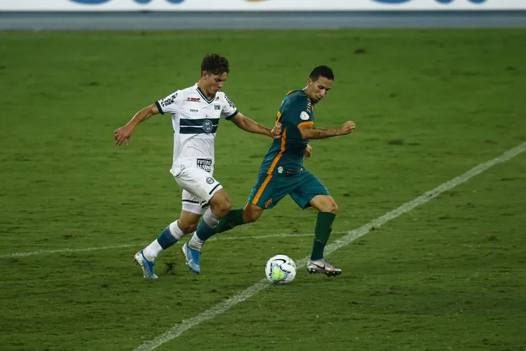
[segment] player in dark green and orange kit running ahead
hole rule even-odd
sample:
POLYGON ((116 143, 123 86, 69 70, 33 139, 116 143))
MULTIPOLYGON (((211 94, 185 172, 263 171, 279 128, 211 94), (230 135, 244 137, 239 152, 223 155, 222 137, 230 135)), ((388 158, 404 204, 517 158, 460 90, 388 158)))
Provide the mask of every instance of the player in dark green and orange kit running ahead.
POLYGON ((245 208, 231 210, 215 228, 199 226, 193 240, 200 244, 215 233, 226 232, 235 226, 255 222, 267 208, 272 208, 289 195, 301 208, 318 210, 314 243, 307 269, 327 276, 341 274, 323 258, 323 249, 329 240, 332 222, 338 206, 320 180, 303 165, 310 156, 309 139, 323 139, 350 134, 356 125, 345 122, 339 128, 318 128, 314 125, 314 106, 331 89, 334 74, 327 66, 312 70, 303 89, 291 91, 279 108, 276 124, 281 124, 281 139, 275 140, 259 168, 256 185, 252 188, 245 208))

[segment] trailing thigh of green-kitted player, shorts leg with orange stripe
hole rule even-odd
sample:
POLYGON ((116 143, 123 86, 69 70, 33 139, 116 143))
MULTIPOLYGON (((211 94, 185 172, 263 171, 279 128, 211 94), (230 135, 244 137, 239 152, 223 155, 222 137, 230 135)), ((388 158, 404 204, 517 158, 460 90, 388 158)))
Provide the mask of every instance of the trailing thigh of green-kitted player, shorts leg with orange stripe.
POLYGON ((248 196, 248 203, 264 209, 276 206, 290 192, 293 183, 288 178, 260 174, 248 196))

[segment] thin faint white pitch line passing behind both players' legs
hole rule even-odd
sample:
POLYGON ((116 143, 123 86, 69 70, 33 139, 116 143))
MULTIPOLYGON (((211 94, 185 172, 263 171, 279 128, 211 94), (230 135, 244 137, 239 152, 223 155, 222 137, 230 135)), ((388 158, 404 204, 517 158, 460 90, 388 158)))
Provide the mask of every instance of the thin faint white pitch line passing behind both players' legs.
MULTIPOLYGON (((347 232, 339 232, 339 233, 332 233, 332 234, 343 234, 347 232)), ((279 234, 268 234, 268 235, 256 235, 256 236, 217 236, 217 237, 211 237, 208 241, 212 240, 238 240, 238 239, 265 239, 265 238, 287 238, 287 237, 295 237, 295 236, 312 236, 311 233, 304 233, 304 234, 286 234, 286 233, 279 233, 279 234)), ((180 241, 181 243, 184 243, 184 240, 180 241)), ((62 254, 62 253, 76 253, 76 252, 88 252, 88 251, 95 251, 95 250, 107 250, 111 248, 122 248, 122 247, 130 247, 130 246, 137 246, 140 247, 141 245, 147 245, 147 244, 122 244, 122 245, 114 245, 114 246, 96 246, 96 247, 83 247, 83 248, 61 248, 56 250, 38 250, 38 251, 29 251, 29 252, 15 252, 12 254, 0 254, 0 258, 12 258, 12 257, 25 257, 25 256, 35 256, 35 255, 46 255, 46 254, 62 254)))

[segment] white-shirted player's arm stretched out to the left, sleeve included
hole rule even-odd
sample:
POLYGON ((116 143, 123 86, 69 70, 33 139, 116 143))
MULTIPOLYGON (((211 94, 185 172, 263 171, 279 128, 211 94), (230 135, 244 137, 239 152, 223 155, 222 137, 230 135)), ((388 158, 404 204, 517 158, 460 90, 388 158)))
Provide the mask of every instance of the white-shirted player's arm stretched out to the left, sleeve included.
POLYGON ((115 145, 119 146, 124 141, 126 141, 126 146, 129 145, 129 140, 131 138, 131 134, 133 133, 135 127, 141 123, 146 121, 146 119, 150 118, 153 115, 157 114, 165 114, 165 112, 176 114, 177 113, 177 92, 168 95, 164 99, 160 99, 159 101, 156 101, 154 104, 151 104, 149 106, 146 106, 145 108, 141 109, 139 112, 131 118, 131 120, 126 123, 125 126, 120 127, 117 129, 115 134, 115 145))

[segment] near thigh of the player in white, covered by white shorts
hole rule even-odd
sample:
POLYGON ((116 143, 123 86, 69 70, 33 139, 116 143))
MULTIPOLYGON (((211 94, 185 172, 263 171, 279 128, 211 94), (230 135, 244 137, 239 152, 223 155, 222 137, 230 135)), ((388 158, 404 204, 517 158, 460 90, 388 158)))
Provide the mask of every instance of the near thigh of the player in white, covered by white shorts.
POLYGON ((210 173, 198 167, 186 167, 174 178, 181 188, 206 203, 222 189, 210 173))

